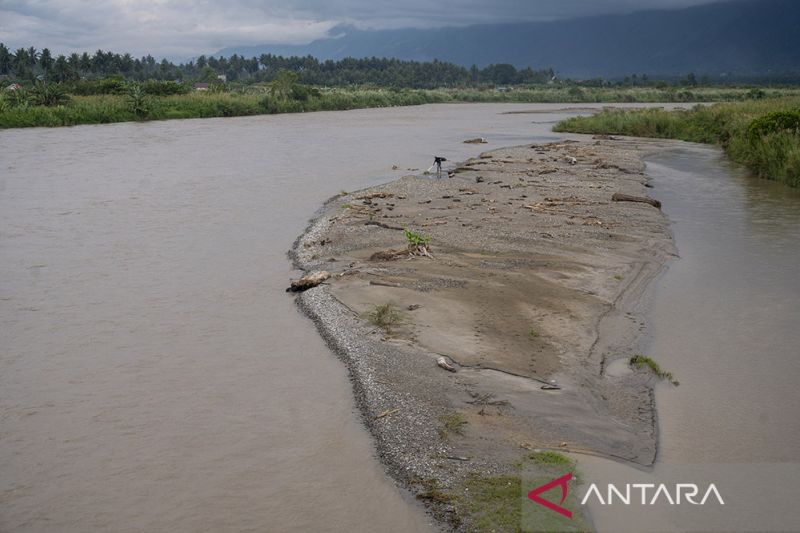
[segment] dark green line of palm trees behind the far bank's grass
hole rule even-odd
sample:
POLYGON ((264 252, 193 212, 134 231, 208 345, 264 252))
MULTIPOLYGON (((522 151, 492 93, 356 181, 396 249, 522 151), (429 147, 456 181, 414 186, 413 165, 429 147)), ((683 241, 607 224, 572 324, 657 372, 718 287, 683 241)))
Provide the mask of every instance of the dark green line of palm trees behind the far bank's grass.
POLYGON ((80 79, 121 76, 130 81, 271 82, 279 72, 296 72, 300 83, 320 86, 375 85, 432 89, 438 87, 475 87, 480 85, 519 85, 546 83, 555 77, 552 68, 517 69, 509 64, 467 69, 444 61, 405 61, 385 58, 346 58, 320 61, 312 56, 282 57, 262 54, 246 58, 204 56, 175 64, 153 56, 133 57, 97 50, 53 55, 48 48, 10 50, 0 43, 0 76, 26 81, 68 82, 80 79))

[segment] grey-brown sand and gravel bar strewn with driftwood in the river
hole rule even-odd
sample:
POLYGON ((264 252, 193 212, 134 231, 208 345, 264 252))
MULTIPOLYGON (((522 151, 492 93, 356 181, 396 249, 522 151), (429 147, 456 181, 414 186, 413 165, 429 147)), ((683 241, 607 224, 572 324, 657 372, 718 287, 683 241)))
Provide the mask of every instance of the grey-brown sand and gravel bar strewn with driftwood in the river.
POLYGON ((659 209, 611 200, 650 196, 648 146, 495 150, 337 196, 295 242, 299 269, 332 274, 300 309, 348 367, 391 476, 446 527, 471 526, 453 504, 465 479, 529 450, 654 462, 652 376, 605 372, 637 352, 637 303, 675 253, 659 209), (432 258, 403 253, 405 228, 432 258), (396 320, 381 327, 367 317, 382 305, 396 320))

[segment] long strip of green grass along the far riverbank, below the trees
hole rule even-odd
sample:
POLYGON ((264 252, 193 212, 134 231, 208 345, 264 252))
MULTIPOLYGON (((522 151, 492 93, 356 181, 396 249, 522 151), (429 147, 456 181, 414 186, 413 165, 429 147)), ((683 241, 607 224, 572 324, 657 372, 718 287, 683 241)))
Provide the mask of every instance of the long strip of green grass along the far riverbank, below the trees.
MULTIPOLYGON (((291 79, 282 87, 275 84, 221 86, 205 92, 187 92, 188 87, 185 87, 183 94, 159 94, 161 82, 142 85, 112 82, 106 87, 111 94, 78 94, 75 86, 55 83, 20 91, 0 91, 0 128, 233 117, 442 102, 703 102, 800 96, 800 89, 795 88, 595 88, 568 84, 513 87, 502 91, 492 88, 313 88, 293 83, 291 79)), ((161 84, 164 88, 174 89, 168 87, 168 83, 171 82, 161 84)), ((102 82, 96 85, 103 87, 102 82)))

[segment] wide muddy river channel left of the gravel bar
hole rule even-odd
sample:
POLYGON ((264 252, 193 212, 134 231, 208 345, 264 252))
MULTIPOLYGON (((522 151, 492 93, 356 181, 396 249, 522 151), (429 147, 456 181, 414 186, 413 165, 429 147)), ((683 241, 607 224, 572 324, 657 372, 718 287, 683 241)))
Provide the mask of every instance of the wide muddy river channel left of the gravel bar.
POLYGON ((553 138, 563 113, 501 112, 562 107, 0 131, 0 530, 429 529, 285 254, 340 190, 553 138))

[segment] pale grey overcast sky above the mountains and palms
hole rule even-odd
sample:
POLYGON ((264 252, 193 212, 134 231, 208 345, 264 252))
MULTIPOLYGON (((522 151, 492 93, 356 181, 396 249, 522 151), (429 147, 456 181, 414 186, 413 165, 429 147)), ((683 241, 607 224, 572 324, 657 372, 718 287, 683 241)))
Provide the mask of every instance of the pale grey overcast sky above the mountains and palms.
POLYGON ((434 27, 552 20, 714 0, 0 0, 0 42, 55 53, 192 57, 246 44, 305 44, 339 24, 434 27))

